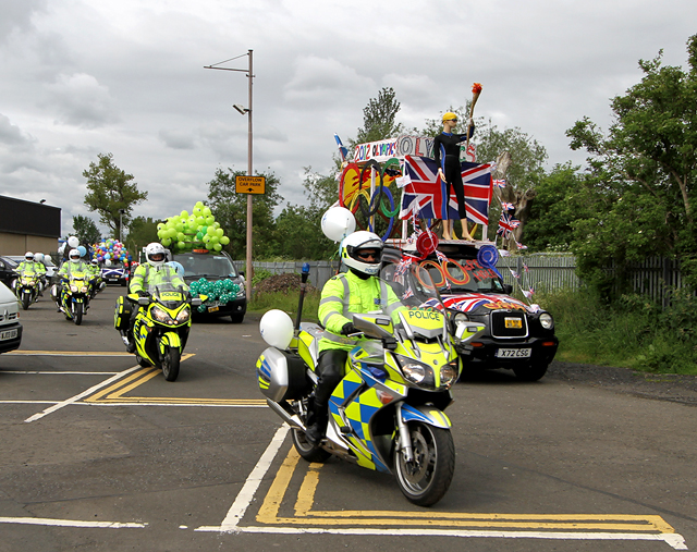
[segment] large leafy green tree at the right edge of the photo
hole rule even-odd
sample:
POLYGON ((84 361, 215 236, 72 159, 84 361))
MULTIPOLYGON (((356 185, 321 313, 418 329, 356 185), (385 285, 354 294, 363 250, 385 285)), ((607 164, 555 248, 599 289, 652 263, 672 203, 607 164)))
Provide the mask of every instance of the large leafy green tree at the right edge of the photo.
POLYGON ((611 199, 607 211, 577 224, 578 233, 595 237, 577 236, 588 273, 599 274, 608 249, 620 265, 669 254, 697 283, 697 35, 687 53, 688 71, 662 65, 662 51, 639 61, 644 76, 612 100, 615 121, 607 136, 588 118, 566 133, 572 149, 590 155, 597 193, 611 199))

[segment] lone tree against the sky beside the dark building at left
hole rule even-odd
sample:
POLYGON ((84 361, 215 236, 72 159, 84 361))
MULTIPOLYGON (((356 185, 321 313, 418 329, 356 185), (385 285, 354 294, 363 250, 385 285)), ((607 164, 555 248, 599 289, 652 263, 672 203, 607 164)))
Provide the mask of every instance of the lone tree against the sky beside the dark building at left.
POLYGON ((118 238, 121 224, 129 225, 133 206, 147 199, 148 193, 139 192, 137 184, 131 183, 133 174, 126 174, 113 164, 113 155, 99 154, 97 157, 99 162, 89 163, 89 169, 83 171, 89 191, 85 205, 99 213, 99 221, 118 238))

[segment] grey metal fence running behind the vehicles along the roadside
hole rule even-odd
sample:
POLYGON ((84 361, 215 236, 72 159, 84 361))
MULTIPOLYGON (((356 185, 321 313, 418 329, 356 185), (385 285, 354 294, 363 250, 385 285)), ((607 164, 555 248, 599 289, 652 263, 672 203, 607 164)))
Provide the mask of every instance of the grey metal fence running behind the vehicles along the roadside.
MULTIPOLYGON (((310 266, 309 282, 315 287, 321 289, 327 280, 337 273, 338 261, 308 261, 310 266)), ((285 272, 299 273, 304 261, 288 262, 255 262, 256 270, 266 269, 273 274, 285 272)), ((244 262, 237 266, 244 270, 244 262)), ((582 285, 576 275, 576 257, 565 254, 535 253, 530 255, 515 255, 499 257, 497 265, 505 283, 514 287, 518 285, 528 291, 552 292, 558 290, 578 290, 582 285)), ((611 275, 619 275, 619 268, 610 266, 606 269, 611 275)), ((665 287, 682 287, 684 281, 680 272, 677 260, 664 258, 648 258, 640 262, 629 263, 624 268, 624 278, 627 282, 626 290, 645 294, 655 300, 665 300, 665 287)))

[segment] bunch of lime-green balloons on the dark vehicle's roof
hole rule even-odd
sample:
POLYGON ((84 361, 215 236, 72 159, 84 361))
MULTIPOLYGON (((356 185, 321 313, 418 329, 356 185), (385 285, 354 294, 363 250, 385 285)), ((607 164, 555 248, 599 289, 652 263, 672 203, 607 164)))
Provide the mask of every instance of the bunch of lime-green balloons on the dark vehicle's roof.
POLYGON ((188 211, 182 211, 169 217, 166 222, 160 222, 157 225, 157 236, 162 245, 170 247, 173 253, 204 248, 219 252, 223 245, 230 243, 220 223, 216 222, 210 207, 206 207, 203 201, 196 203, 191 214, 188 211))

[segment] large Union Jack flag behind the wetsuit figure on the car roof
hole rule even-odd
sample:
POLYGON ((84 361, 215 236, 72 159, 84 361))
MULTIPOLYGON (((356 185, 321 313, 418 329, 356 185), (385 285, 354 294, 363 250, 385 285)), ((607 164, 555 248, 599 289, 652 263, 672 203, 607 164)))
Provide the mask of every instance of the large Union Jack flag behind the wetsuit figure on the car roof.
MULTIPOLYGON (((461 163, 465 188, 467 219, 479 224, 489 222, 491 201, 491 167, 489 164, 461 163)), ((436 161, 428 157, 405 156, 404 193, 400 219, 418 213, 421 219, 458 219, 457 198, 451 188, 444 201, 448 184, 438 176, 436 161)))

